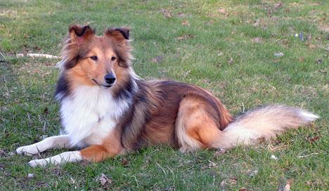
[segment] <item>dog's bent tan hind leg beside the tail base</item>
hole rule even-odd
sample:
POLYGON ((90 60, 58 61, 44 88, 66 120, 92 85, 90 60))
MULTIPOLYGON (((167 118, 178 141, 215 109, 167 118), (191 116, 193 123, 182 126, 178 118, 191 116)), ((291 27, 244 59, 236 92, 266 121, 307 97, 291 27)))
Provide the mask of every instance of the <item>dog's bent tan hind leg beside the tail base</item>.
POLYGON ((181 152, 214 148, 221 137, 218 122, 212 118, 207 102, 198 97, 184 98, 179 105, 176 136, 181 152))

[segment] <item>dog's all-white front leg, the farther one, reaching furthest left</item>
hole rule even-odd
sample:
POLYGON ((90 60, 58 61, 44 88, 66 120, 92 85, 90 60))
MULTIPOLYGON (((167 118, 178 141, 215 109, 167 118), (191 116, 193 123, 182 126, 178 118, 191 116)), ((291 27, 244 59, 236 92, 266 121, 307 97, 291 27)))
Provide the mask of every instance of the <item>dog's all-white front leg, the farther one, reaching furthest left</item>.
POLYGON ((22 146, 16 149, 16 153, 20 155, 35 155, 51 148, 71 148, 69 136, 67 134, 51 136, 30 146, 22 146))

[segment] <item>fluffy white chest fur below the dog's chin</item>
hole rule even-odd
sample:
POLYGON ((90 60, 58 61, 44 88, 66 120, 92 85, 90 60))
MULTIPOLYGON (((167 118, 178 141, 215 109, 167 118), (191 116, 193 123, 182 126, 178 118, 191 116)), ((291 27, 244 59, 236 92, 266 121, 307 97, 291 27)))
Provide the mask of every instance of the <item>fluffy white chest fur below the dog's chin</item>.
POLYGON ((128 108, 128 100, 114 100, 110 90, 83 86, 63 99, 60 115, 72 146, 99 144, 128 108))

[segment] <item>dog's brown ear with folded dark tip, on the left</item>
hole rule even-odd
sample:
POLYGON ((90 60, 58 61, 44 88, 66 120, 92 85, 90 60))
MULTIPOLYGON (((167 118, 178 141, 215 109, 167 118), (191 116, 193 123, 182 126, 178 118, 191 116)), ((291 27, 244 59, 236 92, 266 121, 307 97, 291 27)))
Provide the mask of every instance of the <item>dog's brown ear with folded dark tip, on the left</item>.
POLYGON ((89 25, 80 26, 78 24, 72 24, 69 27, 69 33, 72 43, 82 45, 95 36, 95 29, 91 29, 89 25))

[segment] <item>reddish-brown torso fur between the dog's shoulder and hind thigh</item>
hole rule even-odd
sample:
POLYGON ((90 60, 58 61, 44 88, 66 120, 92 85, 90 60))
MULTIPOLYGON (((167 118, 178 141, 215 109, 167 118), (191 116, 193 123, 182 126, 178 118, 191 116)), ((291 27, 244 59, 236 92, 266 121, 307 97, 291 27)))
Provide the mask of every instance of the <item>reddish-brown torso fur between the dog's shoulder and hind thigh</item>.
POLYGON ((138 84, 143 95, 137 94, 135 108, 132 110, 134 115, 126 115, 127 121, 131 123, 124 120, 119 125, 123 129, 123 145, 129 150, 150 144, 181 146, 175 128, 179 103, 186 99, 185 97, 198 99, 217 129, 224 129, 232 120, 231 115, 217 99, 193 85, 172 81, 138 84), (138 99, 139 96, 143 97, 143 101, 138 99))

